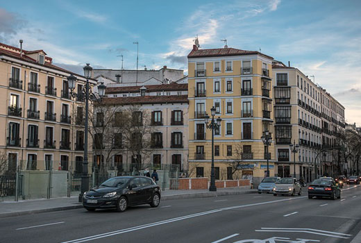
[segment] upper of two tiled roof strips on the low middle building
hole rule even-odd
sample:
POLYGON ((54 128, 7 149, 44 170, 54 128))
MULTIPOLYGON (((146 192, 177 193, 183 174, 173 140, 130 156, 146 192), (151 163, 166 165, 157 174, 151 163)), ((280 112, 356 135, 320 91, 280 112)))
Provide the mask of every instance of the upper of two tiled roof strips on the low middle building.
MULTIPOLYGON (((120 86, 120 87, 107 87, 106 94, 119 94, 128 92, 140 92, 140 88, 143 86, 120 86)), ((170 83, 162 85, 144 85, 147 92, 157 91, 181 91, 188 90, 187 83, 170 83)))

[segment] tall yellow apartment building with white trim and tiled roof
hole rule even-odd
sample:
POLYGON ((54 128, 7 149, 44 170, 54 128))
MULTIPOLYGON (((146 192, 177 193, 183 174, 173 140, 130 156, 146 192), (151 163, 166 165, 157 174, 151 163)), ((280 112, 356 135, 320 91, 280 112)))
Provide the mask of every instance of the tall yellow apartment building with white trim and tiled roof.
MULTIPOLYGON (((215 178, 265 177, 267 155, 261 137, 273 131, 272 60, 258 51, 233 48, 199 49, 188 55, 190 176, 210 177, 212 131, 204 116, 222 119, 215 131, 215 178)), ((269 171, 274 176, 274 143, 269 146, 269 171)))

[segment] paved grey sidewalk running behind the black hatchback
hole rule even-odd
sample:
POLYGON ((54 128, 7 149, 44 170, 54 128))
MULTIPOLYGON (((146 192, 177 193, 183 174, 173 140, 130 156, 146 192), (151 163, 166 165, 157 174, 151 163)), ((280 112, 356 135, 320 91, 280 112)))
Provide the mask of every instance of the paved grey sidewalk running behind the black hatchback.
MULTIPOLYGON (((217 189, 217 192, 209 192, 208 190, 165 190, 161 192, 161 200, 191 199, 250 193, 257 193, 257 190, 239 187, 219 188, 217 189)), ((31 215, 40 212, 71 210, 76 208, 83 208, 83 205, 78 203, 78 196, 55 199, 24 200, 17 202, 3 201, 0 203, 0 218, 17 215, 31 215)))

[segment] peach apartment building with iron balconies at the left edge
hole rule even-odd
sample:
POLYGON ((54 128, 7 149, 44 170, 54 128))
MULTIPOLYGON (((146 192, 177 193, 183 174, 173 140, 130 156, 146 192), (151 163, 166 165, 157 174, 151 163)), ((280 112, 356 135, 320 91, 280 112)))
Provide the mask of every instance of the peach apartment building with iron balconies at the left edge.
MULTIPOLYGON (((53 65, 42 50, 26 51, 0 43, 0 153, 7 160, 5 173, 17 166, 81 173, 85 103, 69 94, 70 74, 53 65)), ((86 80, 74 75, 79 92, 86 80)), ((89 144, 88 151, 92 151, 89 144)), ((89 158, 91 166, 92 153, 89 158)))

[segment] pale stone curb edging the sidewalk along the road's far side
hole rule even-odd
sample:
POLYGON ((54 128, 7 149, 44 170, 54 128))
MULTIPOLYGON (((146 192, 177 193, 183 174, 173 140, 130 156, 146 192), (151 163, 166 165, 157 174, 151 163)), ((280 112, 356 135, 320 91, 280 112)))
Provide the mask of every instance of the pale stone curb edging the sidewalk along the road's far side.
MULTIPOLYGON (((189 194, 176 194, 176 195, 169 195, 169 196, 162 196, 162 201, 167 200, 174 200, 174 199, 195 199, 195 198, 203 198, 203 197, 213 197, 213 196, 228 196, 228 195, 240 195, 240 194, 255 194, 257 190, 246 190, 246 191, 235 191, 235 192, 194 192, 189 194)), ((17 212, 3 212, 0 213, 0 218, 4 217, 15 217, 21 215, 33 215, 41 212, 56 212, 62 210, 72 210, 83 208, 83 205, 75 205, 75 206, 64 206, 58 208, 44 208, 44 209, 37 209, 37 210, 26 210, 26 211, 17 211, 17 212)))

